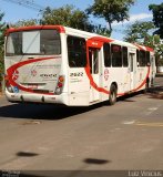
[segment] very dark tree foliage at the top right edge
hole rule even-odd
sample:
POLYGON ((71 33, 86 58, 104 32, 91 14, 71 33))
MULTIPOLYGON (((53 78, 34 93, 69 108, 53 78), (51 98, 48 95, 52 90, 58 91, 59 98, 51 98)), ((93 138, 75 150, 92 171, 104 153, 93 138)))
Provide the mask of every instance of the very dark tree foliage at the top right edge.
POLYGON ((159 28, 154 34, 159 34, 163 39, 163 3, 150 4, 149 9, 153 12, 153 22, 159 28))

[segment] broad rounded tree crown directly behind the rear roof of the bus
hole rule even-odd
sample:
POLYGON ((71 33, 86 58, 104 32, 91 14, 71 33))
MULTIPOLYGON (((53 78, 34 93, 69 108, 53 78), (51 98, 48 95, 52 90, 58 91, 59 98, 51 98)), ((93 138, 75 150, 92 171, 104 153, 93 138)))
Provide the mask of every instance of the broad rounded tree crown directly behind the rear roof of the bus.
POLYGON ((93 30, 93 25, 89 22, 89 15, 79 9, 74 9, 73 6, 59 9, 47 7, 41 14, 41 24, 62 24, 85 31, 93 30))

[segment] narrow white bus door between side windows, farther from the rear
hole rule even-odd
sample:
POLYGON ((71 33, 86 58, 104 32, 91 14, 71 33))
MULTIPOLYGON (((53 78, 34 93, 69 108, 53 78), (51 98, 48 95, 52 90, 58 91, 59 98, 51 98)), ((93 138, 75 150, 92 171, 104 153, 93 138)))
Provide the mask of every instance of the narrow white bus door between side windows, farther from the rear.
POLYGON ((130 91, 135 87, 135 79, 136 79, 136 59, 135 53, 129 53, 129 72, 130 72, 130 91))

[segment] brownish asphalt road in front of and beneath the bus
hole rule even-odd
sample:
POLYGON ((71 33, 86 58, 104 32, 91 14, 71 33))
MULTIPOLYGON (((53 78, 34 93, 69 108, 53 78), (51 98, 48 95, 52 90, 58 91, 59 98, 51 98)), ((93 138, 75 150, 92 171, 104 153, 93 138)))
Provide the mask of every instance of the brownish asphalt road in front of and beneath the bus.
MULTIPOLYGON (((161 92, 163 77, 156 85, 161 92)), ((114 106, 57 107, 1 96, 0 169, 161 170, 163 100, 150 93, 114 106)))

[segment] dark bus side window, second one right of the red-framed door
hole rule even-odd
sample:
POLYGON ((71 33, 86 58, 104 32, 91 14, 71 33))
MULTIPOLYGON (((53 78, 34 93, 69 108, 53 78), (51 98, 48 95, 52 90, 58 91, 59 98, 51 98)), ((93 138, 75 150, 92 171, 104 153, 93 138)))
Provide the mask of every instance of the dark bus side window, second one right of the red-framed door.
POLYGON ((121 67, 122 66, 122 51, 121 45, 112 44, 111 45, 112 53, 112 66, 121 67))

